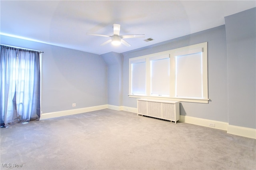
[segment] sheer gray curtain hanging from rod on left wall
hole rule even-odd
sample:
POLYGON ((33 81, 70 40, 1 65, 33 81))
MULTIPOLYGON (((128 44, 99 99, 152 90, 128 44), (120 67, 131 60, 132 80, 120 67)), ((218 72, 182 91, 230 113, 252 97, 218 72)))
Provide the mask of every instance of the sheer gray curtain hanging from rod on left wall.
POLYGON ((40 52, 0 45, 0 121, 40 119, 40 52))

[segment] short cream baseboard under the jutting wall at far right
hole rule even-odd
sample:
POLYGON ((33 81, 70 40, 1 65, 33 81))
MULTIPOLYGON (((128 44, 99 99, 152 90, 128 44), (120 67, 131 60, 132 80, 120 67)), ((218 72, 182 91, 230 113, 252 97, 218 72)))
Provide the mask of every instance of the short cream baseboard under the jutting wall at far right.
POLYGON ((255 128, 246 128, 246 127, 238 127, 238 126, 234 126, 234 125, 228 125, 227 133, 256 139, 256 129, 255 128))

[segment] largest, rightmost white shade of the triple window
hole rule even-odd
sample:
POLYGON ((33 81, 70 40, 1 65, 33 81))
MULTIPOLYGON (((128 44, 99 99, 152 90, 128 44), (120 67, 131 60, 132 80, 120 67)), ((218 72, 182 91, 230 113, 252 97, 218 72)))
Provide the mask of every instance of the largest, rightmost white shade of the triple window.
POLYGON ((176 97, 203 98, 202 52, 175 57, 176 97))

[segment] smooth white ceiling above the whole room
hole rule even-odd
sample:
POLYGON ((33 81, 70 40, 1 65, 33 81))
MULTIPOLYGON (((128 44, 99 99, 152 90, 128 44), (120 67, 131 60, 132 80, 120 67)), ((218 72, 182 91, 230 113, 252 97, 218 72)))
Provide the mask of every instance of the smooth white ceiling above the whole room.
POLYGON ((122 53, 224 25, 225 16, 254 7, 255 0, 1 0, 0 32, 90 53, 122 53), (100 46, 110 38, 86 35, 112 36, 113 24, 121 25, 120 35, 146 37, 125 39, 132 45, 126 47, 100 46))

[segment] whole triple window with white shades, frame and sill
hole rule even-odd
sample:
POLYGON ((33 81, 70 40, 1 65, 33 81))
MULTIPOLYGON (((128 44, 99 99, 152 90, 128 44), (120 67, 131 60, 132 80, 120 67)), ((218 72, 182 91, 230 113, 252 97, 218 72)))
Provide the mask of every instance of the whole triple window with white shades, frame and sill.
POLYGON ((129 97, 208 103, 207 42, 129 59, 129 97))

